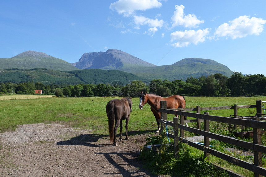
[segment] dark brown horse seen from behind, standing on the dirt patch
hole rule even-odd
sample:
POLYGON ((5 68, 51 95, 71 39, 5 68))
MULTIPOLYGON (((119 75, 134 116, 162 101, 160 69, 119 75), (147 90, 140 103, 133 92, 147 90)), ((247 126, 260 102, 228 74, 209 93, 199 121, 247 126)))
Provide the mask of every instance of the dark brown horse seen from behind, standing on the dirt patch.
POLYGON ((117 128, 120 124, 120 138, 119 140, 122 140, 122 120, 126 119, 126 140, 127 137, 127 128, 128 128, 128 122, 130 113, 132 112, 132 97, 131 98, 122 98, 120 99, 112 99, 109 101, 106 105, 106 114, 108 117, 108 124, 109 124, 109 136, 110 141, 114 143, 115 146, 117 146, 116 142, 116 133, 117 128), (114 126, 115 125, 115 126, 114 126))

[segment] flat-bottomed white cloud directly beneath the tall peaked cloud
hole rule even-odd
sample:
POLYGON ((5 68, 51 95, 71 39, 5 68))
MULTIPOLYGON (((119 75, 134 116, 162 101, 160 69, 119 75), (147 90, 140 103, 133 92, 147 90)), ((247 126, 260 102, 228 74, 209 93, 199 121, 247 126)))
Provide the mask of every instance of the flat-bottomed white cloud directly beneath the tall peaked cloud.
POLYGON ((185 30, 176 31, 171 33, 171 42, 176 41, 172 44, 175 47, 187 47, 189 44, 197 45, 199 42, 204 42, 207 35, 209 34, 209 28, 204 30, 185 30))

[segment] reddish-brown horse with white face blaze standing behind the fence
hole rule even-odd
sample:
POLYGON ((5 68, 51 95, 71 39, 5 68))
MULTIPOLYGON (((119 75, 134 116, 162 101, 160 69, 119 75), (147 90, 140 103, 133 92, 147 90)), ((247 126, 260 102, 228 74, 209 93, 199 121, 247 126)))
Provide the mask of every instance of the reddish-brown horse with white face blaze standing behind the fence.
MULTIPOLYGON (((185 97, 180 95, 172 95, 166 98, 163 98, 159 95, 153 95, 141 92, 140 94, 140 102, 139 102, 139 108, 142 109, 144 104, 148 103, 151 106, 152 113, 154 117, 156 118, 158 129, 157 132, 159 132, 160 128, 160 122, 159 119, 161 119, 161 113, 159 112, 159 108, 161 107, 160 101, 166 101, 167 109, 170 108, 185 108, 186 107, 186 100, 185 97)), ((177 115, 176 115, 177 116, 177 115)))

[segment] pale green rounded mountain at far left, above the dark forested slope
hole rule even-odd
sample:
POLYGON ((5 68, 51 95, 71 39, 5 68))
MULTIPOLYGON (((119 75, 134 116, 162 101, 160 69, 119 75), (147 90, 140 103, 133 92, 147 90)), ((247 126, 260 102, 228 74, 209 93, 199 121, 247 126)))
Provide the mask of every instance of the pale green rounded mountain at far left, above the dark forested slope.
POLYGON ((52 57, 42 52, 26 51, 11 58, 0 58, 0 69, 33 69, 46 68, 50 70, 71 71, 78 70, 67 61, 52 57))

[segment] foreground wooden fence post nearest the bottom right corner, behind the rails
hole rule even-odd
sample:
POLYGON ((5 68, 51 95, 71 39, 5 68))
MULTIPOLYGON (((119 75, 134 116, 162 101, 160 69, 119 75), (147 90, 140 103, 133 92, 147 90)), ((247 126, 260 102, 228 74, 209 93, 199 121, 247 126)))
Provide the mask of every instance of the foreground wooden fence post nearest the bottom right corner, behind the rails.
MULTIPOLYGON (((260 121, 260 117, 254 117, 252 120, 260 121)), ((261 145, 261 129, 253 128, 253 143, 261 145)), ((254 165, 262 166, 262 153, 254 150, 254 165)), ((254 173, 255 177, 262 176, 254 173)))

